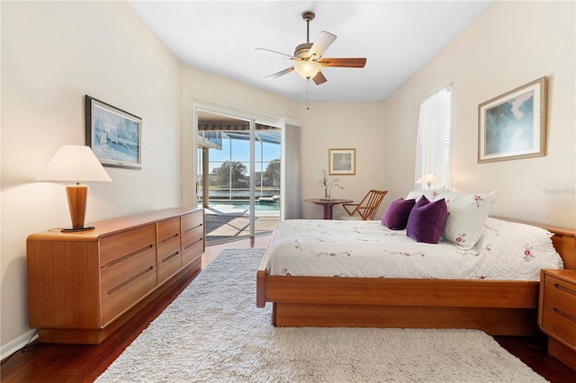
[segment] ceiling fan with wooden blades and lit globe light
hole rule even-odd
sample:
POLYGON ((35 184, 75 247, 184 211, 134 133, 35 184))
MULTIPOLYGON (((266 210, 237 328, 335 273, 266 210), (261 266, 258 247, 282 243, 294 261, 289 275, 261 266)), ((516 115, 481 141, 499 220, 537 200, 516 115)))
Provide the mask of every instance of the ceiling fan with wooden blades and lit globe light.
POLYGON ((302 13, 302 19, 306 22, 306 42, 298 45, 294 49, 293 56, 276 52, 275 50, 257 48, 259 53, 271 54, 282 58, 290 58, 297 63, 293 67, 286 68, 280 72, 265 77, 267 80, 284 76, 292 71, 296 71, 303 79, 312 79, 316 85, 326 83, 326 77, 322 75, 323 67, 364 67, 366 58, 322 58, 322 54, 336 40, 336 35, 327 31, 321 31, 318 39, 314 43, 310 42, 310 22, 316 15, 311 11, 302 13))

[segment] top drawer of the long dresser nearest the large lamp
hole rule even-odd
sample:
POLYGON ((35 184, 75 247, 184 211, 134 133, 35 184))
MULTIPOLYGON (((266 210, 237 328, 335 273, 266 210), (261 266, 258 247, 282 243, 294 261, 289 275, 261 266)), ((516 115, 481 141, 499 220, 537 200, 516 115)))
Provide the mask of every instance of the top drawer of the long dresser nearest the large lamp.
POLYGON ((100 266, 156 246, 156 224, 123 231, 100 241, 100 266))

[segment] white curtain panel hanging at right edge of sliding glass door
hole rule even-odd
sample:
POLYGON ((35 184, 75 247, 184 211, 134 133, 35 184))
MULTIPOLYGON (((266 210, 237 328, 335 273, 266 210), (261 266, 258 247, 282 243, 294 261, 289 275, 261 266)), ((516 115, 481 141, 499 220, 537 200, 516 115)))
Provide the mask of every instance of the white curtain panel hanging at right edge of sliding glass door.
POLYGON ((286 124, 282 138, 281 219, 302 218, 300 127, 286 124))

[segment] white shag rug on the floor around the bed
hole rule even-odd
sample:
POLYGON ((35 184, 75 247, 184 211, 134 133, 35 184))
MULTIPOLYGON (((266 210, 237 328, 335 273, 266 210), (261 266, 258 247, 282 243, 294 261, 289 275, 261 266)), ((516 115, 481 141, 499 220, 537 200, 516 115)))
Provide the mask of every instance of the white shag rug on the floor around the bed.
POLYGON ((477 330, 275 328, 256 307, 263 254, 219 254, 96 381, 546 381, 477 330))

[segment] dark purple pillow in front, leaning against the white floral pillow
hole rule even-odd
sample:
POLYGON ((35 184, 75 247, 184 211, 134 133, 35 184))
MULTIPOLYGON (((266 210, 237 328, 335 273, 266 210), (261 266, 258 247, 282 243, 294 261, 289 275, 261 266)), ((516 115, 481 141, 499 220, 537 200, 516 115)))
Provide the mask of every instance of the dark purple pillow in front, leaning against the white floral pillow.
POLYGON ((430 202, 423 196, 410 212, 406 234, 417 242, 437 244, 446 226, 446 218, 446 200, 430 202))

